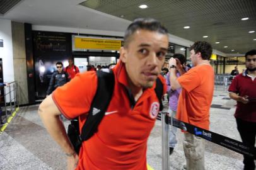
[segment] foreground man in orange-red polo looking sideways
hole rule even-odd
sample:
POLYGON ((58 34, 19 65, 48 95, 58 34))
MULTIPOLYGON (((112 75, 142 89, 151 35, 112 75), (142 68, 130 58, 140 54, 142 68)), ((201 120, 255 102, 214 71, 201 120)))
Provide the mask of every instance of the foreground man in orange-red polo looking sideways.
POLYGON ((50 135, 67 156, 67 169, 146 170, 146 149, 160 103, 154 92, 168 49, 168 31, 153 19, 135 20, 124 36, 120 61, 112 69, 115 87, 98 131, 83 142, 79 159, 58 116, 79 116, 84 125, 96 93, 96 72, 84 72, 56 89, 39 107, 50 135), (89 83, 88 83, 89 82, 89 83))

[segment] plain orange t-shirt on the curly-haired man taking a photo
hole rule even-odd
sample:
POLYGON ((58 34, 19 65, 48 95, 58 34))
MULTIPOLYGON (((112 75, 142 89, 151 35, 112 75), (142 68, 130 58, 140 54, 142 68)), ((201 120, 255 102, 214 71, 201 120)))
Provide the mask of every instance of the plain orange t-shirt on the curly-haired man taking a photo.
POLYGON ((211 65, 197 65, 177 80, 182 86, 177 119, 209 130, 209 111, 214 90, 214 71, 211 65))

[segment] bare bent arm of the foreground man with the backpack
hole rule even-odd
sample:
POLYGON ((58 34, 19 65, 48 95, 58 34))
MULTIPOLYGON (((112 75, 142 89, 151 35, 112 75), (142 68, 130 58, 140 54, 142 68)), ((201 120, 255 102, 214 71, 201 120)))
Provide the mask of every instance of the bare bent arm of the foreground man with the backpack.
POLYGON ((59 115, 61 111, 55 105, 52 95, 42 101, 38 113, 46 130, 52 138, 61 146, 67 156, 67 169, 75 169, 78 164, 78 155, 74 151, 73 145, 67 137, 67 133, 59 115))

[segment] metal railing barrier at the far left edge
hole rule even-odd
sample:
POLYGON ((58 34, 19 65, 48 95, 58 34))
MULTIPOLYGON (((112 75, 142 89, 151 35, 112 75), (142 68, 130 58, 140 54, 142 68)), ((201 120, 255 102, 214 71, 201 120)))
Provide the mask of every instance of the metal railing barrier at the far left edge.
POLYGON ((8 123, 15 116, 19 108, 18 84, 16 81, 8 82, 8 86, 1 87, 0 91, 0 133, 5 130, 8 123), (2 110, 4 108, 4 110, 2 110))

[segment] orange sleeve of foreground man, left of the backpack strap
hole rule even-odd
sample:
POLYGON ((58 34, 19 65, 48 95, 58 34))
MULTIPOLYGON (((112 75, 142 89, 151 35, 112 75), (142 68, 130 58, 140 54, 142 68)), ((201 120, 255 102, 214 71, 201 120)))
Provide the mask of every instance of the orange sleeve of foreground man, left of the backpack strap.
POLYGON ((69 119, 88 113, 97 88, 96 72, 78 74, 52 94, 61 113, 69 119))

